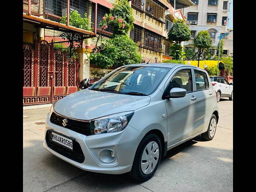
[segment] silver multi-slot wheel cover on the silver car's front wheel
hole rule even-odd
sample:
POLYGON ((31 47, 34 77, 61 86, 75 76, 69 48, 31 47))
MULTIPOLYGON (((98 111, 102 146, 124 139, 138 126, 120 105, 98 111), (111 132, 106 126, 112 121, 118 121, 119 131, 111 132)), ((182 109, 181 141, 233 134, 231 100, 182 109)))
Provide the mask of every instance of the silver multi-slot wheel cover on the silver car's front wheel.
POLYGON ((150 174, 156 168, 159 160, 159 146, 157 142, 149 142, 143 150, 141 158, 141 170, 144 174, 150 174))

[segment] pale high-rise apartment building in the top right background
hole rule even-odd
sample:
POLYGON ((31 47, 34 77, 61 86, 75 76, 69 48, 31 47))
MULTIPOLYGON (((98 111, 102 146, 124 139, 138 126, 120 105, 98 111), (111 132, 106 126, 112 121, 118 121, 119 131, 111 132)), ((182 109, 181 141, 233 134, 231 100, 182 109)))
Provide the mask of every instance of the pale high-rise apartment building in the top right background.
MULTIPOLYGON (((230 0, 192 0, 195 5, 184 9, 184 16, 186 16, 191 30, 191 39, 184 42, 184 46, 188 46, 192 43, 193 38, 201 30, 208 30, 210 37, 212 38, 213 46, 217 46, 220 34, 228 31, 228 14, 230 0)), ((231 37, 228 35, 224 40, 224 52, 230 55, 232 53, 232 41, 227 38, 231 37)), ((212 51, 215 54, 216 50, 212 51)))

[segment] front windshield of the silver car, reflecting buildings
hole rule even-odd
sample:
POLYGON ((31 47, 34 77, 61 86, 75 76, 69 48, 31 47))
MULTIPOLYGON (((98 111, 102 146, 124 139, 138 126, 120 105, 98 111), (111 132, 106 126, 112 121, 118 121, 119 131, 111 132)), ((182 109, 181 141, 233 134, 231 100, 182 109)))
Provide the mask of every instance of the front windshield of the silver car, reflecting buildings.
POLYGON ((128 66, 108 74, 90 90, 145 96, 152 94, 170 68, 128 66))

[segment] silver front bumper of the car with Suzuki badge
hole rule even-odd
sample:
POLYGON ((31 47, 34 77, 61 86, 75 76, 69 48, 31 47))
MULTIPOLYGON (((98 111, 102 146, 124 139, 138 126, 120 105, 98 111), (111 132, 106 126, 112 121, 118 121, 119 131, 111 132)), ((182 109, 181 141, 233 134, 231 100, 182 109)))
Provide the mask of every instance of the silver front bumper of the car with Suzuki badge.
POLYGON ((82 170, 106 174, 123 174, 131 170, 138 144, 142 138, 141 132, 129 125, 121 132, 85 136, 62 126, 52 124, 49 114, 47 114, 43 146, 55 156, 82 170), (85 157, 84 162, 78 163, 49 148, 46 142, 46 132, 48 130, 54 130, 74 138, 81 146, 85 157), (105 163, 100 160, 99 154, 104 149, 110 149, 115 152, 116 158, 113 162, 105 163))

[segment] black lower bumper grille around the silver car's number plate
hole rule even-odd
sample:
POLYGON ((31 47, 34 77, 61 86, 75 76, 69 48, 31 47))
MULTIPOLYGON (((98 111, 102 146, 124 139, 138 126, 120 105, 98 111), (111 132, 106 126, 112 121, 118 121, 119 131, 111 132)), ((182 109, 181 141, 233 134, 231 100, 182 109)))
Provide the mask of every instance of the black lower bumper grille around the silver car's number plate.
POLYGON ((82 152, 81 146, 76 141, 73 142, 73 151, 72 151, 72 150, 50 140, 49 130, 48 130, 46 132, 46 144, 49 148, 51 148, 55 152, 65 156, 66 158, 74 160, 78 163, 84 162, 84 154, 82 152))

